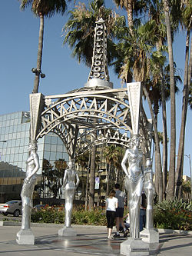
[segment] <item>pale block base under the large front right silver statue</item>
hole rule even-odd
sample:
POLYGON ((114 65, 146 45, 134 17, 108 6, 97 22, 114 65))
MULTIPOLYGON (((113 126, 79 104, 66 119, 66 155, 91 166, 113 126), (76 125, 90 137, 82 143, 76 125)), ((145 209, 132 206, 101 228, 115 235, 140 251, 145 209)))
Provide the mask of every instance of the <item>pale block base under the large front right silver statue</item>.
POLYGON ((121 243, 121 254, 127 256, 149 255, 149 244, 144 243, 141 238, 127 238, 126 241, 121 243))

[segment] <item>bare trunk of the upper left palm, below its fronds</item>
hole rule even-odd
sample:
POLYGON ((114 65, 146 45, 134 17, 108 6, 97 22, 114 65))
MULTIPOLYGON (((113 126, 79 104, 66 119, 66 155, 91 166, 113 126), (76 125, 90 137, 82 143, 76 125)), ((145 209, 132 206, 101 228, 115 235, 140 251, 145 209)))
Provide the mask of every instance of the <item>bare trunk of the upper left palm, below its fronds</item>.
POLYGON ((44 16, 39 15, 39 18, 40 18, 40 27, 39 27, 39 34, 38 34, 38 59, 37 59, 37 71, 35 73, 33 93, 38 92, 39 76, 41 72, 41 61, 42 61, 42 52, 43 52, 44 16))

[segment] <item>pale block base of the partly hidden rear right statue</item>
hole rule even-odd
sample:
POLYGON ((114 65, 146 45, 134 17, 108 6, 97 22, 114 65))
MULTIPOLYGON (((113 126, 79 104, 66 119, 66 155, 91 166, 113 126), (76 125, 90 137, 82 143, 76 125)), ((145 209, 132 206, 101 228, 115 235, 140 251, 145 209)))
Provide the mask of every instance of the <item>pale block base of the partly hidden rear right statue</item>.
POLYGON ((140 237, 145 243, 159 243, 159 232, 156 228, 144 228, 144 230, 140 232, 140 237))

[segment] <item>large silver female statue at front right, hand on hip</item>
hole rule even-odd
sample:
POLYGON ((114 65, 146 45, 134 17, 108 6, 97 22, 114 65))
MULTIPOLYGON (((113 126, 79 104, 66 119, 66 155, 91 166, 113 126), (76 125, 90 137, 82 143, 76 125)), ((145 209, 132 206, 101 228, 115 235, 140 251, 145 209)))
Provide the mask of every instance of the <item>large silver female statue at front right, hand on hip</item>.
POLYGON ((131 148, 127 148, 121 166, 126 175, 125 188, 129 193, 129 214, 131 237, 140 238, 139 221, 141 193, 144 187, 143 153, 140 150, 140 137, 131 137, 131 148), (126 162, 128 161, 128 168, 126 162))

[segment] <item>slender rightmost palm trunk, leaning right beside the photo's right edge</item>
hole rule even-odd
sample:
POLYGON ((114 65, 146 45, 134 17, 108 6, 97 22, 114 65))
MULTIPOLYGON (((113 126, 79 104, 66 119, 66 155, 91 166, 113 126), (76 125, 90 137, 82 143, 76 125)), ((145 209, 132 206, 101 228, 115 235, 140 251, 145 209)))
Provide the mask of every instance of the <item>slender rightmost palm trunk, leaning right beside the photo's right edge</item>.
POLYGON ((183 180, 183 167, 184 167, 184 137, 185 127, 187 120, 187 105, 190 90, 190 74, 192 62, 192 40, 190 42, 190 31, 187 30, 186 37, 186 51, 185 51, 185 68, 184 68, 184 90, 183 90, 183 106, 180 124, 180 140, 177 155, 177 170, 176 170, 176 190, 177 198, 181 198, 181 185, 183 180), (190 62, 189 62, 189 45, 190 45, 190 62))

